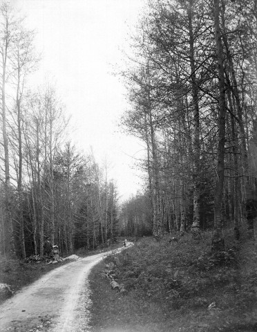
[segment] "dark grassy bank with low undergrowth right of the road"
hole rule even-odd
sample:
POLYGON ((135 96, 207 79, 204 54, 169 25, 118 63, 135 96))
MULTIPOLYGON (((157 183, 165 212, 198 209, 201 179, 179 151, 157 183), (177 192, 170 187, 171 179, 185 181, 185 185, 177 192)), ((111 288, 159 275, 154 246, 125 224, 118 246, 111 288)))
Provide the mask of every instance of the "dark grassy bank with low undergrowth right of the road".
POLYGON ((92 331, 257 331, 253 240, 245 230, 236 243, 227 230, 222 255, 211 254, 210 243, 211 232, 204 232, 199 243, 189 234, 178 243, 144 238, 108 256, 90 275, 92 331), (110 261, 124 294, 102 276, 110 261))

